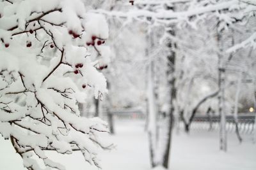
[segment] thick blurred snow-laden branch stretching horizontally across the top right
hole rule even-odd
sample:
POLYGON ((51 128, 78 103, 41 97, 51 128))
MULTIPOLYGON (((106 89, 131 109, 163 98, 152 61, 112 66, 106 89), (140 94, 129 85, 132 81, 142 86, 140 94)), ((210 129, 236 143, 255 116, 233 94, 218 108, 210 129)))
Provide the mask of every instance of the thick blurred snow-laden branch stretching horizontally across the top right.
MULTIPOLYGON (((205 13, 216 12, 216 11, 234 11, 237 8, 244 8, 244 11, 250 12, 253 10, 252 8, 247 8, 250 6, 241 4, 239 0, 230 0, 230 1, 220 1, 217 3, 209 3, 208 1, 203 1, 202 3, 198 3, 196 6, 191 1, 187 0, 178 0, 178 1, 136 1, 135 6, 137 8, 131 8, 129 11, 106 11, 106 10, 96 10, 97 13, 103 13, 110 17, 118 17, 118 18, 152 18, 153 20, 171 20, 172 22, 179 22, 180 20, 188 20, 191 17, 199 17, 205 13), (164 5, 173 6, 177 3, 184 3, 189 8, 186 10, 173 11, 173 10, 164 10, 164 5), (191 5, 188 5, 191 3, 191 5), (155 8, 157 10, 152 10, 149 6, 163 6, 163 8, 155 8)), ((235 16, 233 16, 235 17, 235 16)), ((237 15, 238 17, 238 15, 237 15)), ((169 21, 170 22, 170 21, 169 21)))

